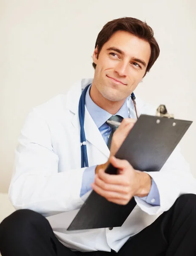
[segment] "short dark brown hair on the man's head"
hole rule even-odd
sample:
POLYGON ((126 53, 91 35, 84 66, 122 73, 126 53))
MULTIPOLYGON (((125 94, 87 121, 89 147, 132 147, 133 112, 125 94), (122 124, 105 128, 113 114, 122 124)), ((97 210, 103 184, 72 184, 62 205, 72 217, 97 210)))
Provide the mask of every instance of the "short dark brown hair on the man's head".
MULTIPOLYGON (((99 32, 97 36, 97 40, 95 43, 95 48, 97 47, 97 58, 99 57, 99 52, 101 51, 103 45, 111 38, 111 36, 116 31, 127 31, 138 38, 141 38, 147 41, 151 46, 151 57, 148 62, 148 66, 146 68, 146 72, 149 72, 151 67, 153 66, 156 59, 159 57, 159 45, 156 42, 156 39, 153 37, 154 32, 150 26, 147 25, 146 22, 138 20, 132 17, 123 17, 116 20, 111 20, 103 26, 102 30, 99 32)), ((93 62, 94 69, 96 68, 96 64, 93 62)), ((144 76, 145 76, 144 75, 144 76)))

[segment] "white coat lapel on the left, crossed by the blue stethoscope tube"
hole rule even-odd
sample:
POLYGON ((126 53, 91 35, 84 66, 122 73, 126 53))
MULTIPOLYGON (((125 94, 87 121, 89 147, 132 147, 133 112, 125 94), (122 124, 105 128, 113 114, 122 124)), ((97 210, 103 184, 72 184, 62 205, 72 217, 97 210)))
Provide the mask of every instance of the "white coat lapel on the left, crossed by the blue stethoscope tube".
MULTIPOLYGON (((88 84, 88 81, 87 83, 88 84)), ((79 113, 78 113, 78 105, 81 95, 81 82, 77 83, 68 92, 68 101, 67 108, 74 113, 74 117, 71 122, 74 127, 77 129, 78 133, 80 133, 80 122, 79 122, 79 113)), ((91 115, 88 113, 88 110, 85 107, 85 122, 84 122, 84 130, 86 140, 99 149, 105 156, 109 157, 110 151, 108 146, 106 145, 97 125, 93 121, 91 115)))

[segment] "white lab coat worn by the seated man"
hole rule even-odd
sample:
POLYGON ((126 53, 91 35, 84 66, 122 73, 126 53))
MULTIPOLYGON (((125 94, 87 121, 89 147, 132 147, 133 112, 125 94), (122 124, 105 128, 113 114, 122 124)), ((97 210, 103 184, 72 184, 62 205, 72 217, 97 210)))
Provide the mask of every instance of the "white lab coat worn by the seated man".
MULTIPOLYGON (((177 148, 160 172, 148 172, 159 189, 160 206, 135 197, 137 205, 122 227, 67 231, 84 202, 80 198, 85 168, 81 169, 78 103, 81 87, 91 82, 82 79, 66 95, 28 114, 16 149, 9 197, 16 209, 32 209, 46 216, 57 238, 72 250, 118 251, 130 236, 170 209, 180 195, 196 194, 196 181, 177 148)), ((136 100, 140 114, 155 114, 154 108, 136 100)), ((132 101, 129 105, 131 117, 136 118, 132 101)), ((110 152, 86 109, 84 128, 89 166, 105 163, 110 152)))

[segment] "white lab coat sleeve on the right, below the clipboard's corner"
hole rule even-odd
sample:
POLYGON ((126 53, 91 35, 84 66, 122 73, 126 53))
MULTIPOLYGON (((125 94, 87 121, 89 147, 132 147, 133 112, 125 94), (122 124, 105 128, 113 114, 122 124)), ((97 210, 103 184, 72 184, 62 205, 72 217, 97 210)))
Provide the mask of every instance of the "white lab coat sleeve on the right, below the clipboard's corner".
POLYGON ((160 206, 147 204, 135 196, 138 206, 149 215, 156 215, 172 207, 176 199, 183 194, 196 194, 196 180, 189 165, 180 153, 179 146, 173 151, 160 172, 146 172, 156 183, 159 190, 160 206))

